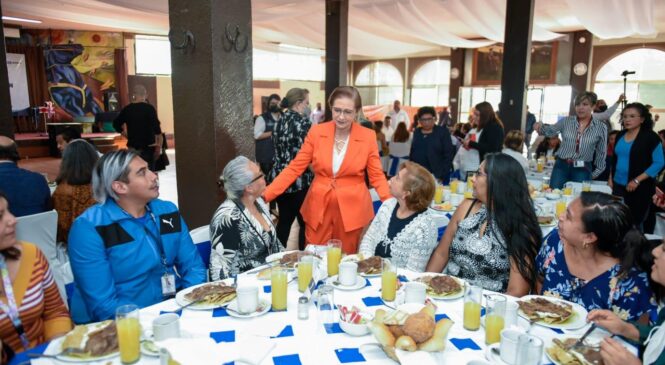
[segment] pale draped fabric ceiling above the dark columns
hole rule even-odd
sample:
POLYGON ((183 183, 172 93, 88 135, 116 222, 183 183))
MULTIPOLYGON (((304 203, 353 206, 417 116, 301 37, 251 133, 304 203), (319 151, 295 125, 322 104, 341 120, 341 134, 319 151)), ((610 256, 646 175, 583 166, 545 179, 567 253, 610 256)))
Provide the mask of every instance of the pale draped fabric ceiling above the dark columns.
MULTIPOLYGON (((220 4, 223 1, 219 1, 220 4)), ((506 0, 349 0, 349 56, 404 57, 476 48, 503 39, 506 0)), ((536 0, 532 38, 600 39, 665 33, 665 0, 536 0)), ((221 6, 221 5, 220 5, 221 6)), ((3 15, 41 20, 24 28, 168 33, 168 0, 4 0, 3 15)), ((322 49, 325 0, 252 1, 255 47, 322 49)))

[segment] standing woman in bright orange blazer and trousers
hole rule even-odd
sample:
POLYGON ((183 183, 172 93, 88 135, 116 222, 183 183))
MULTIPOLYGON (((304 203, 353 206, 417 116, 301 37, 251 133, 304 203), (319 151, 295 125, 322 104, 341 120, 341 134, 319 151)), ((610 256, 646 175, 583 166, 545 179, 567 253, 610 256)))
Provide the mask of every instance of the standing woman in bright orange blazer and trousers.
POLYGON ((264 196, 271 201, 311 164, 314 181, 300 213, 307 242, 325 244, 336 238, 345 253, 356 253, 360 235, 374 217, 365 172, 381 200, 390 197, 381 168, 376 134, 356 122, 362 107, 358 90, 340 86, 328 101, 333 120, 309 130, 295 159, 273 180, 264 196))

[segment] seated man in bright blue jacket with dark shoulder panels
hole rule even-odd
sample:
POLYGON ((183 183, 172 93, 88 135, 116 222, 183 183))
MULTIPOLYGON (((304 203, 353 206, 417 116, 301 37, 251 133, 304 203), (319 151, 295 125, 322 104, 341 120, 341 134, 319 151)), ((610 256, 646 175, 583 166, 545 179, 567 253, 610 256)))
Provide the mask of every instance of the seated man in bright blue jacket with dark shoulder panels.
POLYGON ((75 322, 110 319, 121 305, 143 308, 206 280, 185 221, 157 199, 159 179, 135 151, 105 154, 92 188, 99 204, 74 221, 68 241, 75 322))

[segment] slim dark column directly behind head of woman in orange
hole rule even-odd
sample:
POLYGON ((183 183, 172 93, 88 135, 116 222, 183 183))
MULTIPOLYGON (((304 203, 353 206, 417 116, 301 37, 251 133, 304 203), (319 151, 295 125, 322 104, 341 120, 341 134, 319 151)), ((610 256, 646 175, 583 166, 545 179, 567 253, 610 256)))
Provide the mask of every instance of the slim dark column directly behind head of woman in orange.
MULTIPOLYGON (((346 84, 349 0, 326 0, 326 103, 333 90, 346 84)), ((326 120, 332 111, 326 106, 326 120)))

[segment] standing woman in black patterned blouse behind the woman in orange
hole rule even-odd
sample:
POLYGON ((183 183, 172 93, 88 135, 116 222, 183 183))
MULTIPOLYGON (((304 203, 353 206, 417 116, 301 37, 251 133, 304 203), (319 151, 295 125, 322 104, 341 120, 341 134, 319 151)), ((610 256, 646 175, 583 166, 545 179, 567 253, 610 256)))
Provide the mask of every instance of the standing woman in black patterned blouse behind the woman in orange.
MULTIPOLYGON (((300 151, 300 147, 305 141, 305 137, 307 137, 307 132, 312 126, 312 122, 304 114, 307 106, 309 106, 309 91, 306 89, 293 88, 282 99, 281 107, 287 108, 287 110, 282 119, 275 124, 272 132, 275 160, 272 171, 270 171, 269 181, 275 179, 300 151)), ((301 250, 305 248, 305 221, 300 214, 300 206, 305 201, 307 190, 313 179, 314 174, 310 170, 305 171, 276 199, 279 208, 277 237, 284 246, 286 246, 289 239, 293 220, 297 218, 300 225, 298 246, 301 250)))

